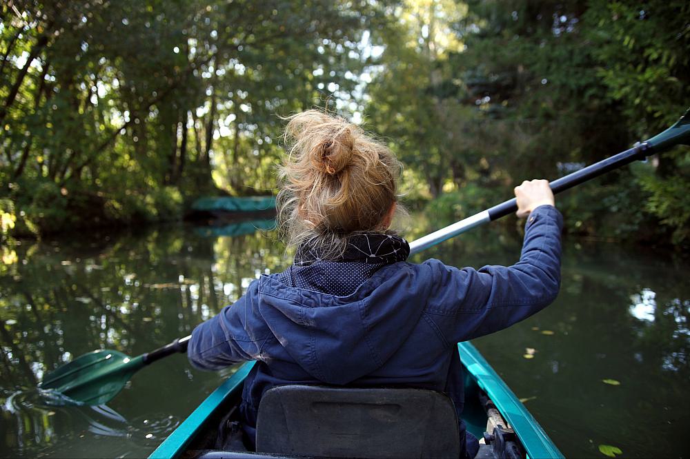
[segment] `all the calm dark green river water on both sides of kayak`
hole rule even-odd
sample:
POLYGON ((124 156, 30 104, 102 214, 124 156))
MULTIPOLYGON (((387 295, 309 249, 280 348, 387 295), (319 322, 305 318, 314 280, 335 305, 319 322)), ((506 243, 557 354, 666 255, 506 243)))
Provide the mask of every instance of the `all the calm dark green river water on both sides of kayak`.
MULTIPOLYGON (((252 224, 174 227, 6 249, 0 456, 155 449, 231 370, 203 373, 172 356, 139 371, 107 407, 45 406, 27 389, 93 349, 138 355, 189 334, 259 274, 289 263, 271 237, 252 224)), ((519 252, 515 238, 480 229, 423 255, 480 267, 519 252)), ((689 456, 689 273, 671 253, 565 241, 558 300, 475 345, 566 456, 604 457, 599 445, 627 457, 689 456)))

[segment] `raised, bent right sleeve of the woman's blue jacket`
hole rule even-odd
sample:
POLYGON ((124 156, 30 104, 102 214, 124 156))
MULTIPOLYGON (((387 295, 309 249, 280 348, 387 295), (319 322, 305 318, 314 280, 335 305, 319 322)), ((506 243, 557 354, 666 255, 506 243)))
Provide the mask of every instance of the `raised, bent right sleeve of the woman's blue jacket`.
POLYGON ((431 300, 425 313, 449 343, 470 340, 520 322, 558 296, 562 216, 537 207, 525 224, 520 261, 515 265, 457 269, 427 261, 432 269, 431 300))

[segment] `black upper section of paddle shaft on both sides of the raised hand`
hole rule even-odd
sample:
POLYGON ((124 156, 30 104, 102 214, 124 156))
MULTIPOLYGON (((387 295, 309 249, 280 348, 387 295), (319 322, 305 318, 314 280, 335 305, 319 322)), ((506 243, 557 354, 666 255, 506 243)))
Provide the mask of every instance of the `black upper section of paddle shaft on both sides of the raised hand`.
MULTIPOLYGON (((630 150, 625 150, 624 152, 615 154, 607 159, 603 159, 598 163, 583 167, 572 174, 568 174, 560 179, 554 180, 553 182, 549 183, 549 186, 551 187, 553 194, 558 194, 564 190, 574 187, 575 185, 580 185, 580 183, 586 182, 602 174, 606 174, 611 170, 618 169, 618 167, 622 167, 640 159, 645 159, 652 153, 653 152, 647 143, 638 143, 630 150)), ((517 211, 517 201, 515 198, 512 198, 509 201, 505 201, 504 203, 491 207, 488 212, 490 221, 494 221, 502 216, 512 214, 515 211, 517 211)))

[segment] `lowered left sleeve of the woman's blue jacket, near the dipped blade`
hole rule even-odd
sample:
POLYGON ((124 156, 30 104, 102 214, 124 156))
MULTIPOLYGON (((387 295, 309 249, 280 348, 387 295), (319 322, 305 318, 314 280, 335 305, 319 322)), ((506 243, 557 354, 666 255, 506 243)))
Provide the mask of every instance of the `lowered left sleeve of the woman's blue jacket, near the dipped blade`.
POLYGON ((197 325, 187 348, 193 367, 217 370, 243 360, 256 360, 263 336, 262 321, 257 318, 256 298, 259 283, 251 283, 247 292, 232 305, 197 325))

